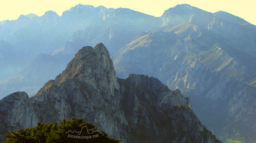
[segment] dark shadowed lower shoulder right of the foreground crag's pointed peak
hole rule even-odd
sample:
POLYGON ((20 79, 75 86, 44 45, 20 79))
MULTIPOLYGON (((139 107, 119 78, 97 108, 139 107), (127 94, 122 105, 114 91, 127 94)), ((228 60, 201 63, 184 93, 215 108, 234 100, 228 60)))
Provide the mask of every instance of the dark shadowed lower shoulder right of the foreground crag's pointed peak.
POLYGON ((220 142, 204 128, 193 113, 189 98, 183 97, 180 90, 172 91, 148 75, 130 74, 118 81, 124 94, 121 105, 133 123, 130 128, 146 127, 152 135, 140 142, 220 142), (161 133, 165 136, 155 136, 161 133))

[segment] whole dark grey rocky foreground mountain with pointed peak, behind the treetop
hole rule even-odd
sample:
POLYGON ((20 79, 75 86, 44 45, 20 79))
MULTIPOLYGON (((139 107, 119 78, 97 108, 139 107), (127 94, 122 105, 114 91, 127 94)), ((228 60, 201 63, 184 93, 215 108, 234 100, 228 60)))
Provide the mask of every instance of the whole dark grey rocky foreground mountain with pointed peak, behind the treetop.
POLYGON ((0 100, 1 134, 8 129, 84 118, 128 142, 220 142, 193 113, 188 97, 154 77, 115 75, 103 44, 83 47, 36 96, 15 92, 0 100), (3 128, 2 128, 3 127, 3 128))

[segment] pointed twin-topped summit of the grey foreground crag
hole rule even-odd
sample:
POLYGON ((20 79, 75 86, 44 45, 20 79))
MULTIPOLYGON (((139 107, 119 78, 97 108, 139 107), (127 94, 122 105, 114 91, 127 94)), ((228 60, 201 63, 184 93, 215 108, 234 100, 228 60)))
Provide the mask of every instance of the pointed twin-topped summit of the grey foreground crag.
POLYGON ((39 93, 50 84, 60 84, 70 78, 86 82, 95 89, 111 89, 109 92, 112 95, 114 95, 115 88, 119 90, 113 62, 107 48, 102 43, 94 48, 82 47, 69 62, 67 68, 54 81, 48 81, 39 93))

